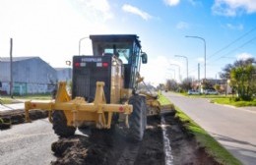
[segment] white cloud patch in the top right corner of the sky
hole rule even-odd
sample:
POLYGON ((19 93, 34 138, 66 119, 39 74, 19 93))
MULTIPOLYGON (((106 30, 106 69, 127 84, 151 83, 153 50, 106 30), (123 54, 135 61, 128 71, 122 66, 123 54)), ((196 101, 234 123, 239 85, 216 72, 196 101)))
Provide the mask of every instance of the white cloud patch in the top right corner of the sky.
POLYGON ((256 12, 255 0, 215 0, 212 11, 216 15, 234 17, 244 12, 252 14, 256 12))

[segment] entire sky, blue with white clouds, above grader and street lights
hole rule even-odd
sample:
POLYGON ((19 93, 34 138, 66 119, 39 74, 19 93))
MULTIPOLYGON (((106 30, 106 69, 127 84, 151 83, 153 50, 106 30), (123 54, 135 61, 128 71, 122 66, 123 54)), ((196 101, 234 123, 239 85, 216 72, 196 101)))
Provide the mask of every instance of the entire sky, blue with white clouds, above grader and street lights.
MULTIPOLYGON (((164 83, 188 75, 219 78, 224 66, 256 56, 255 0, 1 0, 0 57, 39 56, 53 67, 78 55, 79 39, 90 34, 134 33, 140 36, 149 64, 146 82, 164 83), (175 64, 175 65, 170 65, 175 64), (175 78, 174 78, 175 75, 175 78)), ((92 54, 89 39, 82 54, 92 54)))

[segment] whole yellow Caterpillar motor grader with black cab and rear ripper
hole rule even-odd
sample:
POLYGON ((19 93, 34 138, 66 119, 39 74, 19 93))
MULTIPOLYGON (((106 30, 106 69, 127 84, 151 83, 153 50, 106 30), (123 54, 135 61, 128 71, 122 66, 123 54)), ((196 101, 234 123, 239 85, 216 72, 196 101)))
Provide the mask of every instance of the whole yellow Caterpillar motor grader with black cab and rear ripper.
MULTIPOLYGON (((49 121, 59 137, 70 137, 77 128, 95 126, 110 129, 123 123, 130 138, 141 140, 147 126, 147 115, 160 114, 160 102, 152 94, 141 94, 143 82, 139 71, 148 61, 135 34, 90 35, 92 56, 73 57, 72 96, 66 83, 59 83, 55 99, 50 102, 25 103, 29 111, 49 111, 49 121)), ((172 105, 167 106, 171 109, 172 105)))

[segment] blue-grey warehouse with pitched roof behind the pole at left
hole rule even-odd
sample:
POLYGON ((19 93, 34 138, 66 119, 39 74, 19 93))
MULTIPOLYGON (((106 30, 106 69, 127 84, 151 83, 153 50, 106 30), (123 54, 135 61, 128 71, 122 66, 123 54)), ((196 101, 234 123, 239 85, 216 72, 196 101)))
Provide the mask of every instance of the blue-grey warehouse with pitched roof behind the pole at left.
MULTIPOLYGON (((10 58, 0 58, 1 93, 10 94, 11 84, 10 58)), ((13 58, 13 93, 33 94, 47 93, 53 90, 57 83, 57 73, 49 64, 39 57, 13 58)))

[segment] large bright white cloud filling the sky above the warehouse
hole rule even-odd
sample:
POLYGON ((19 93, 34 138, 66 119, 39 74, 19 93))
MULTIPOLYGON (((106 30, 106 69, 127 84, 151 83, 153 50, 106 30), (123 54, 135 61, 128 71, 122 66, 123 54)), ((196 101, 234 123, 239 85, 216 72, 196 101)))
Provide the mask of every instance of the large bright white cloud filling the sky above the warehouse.
MULTIPOLYGON (((78 54, 80 38, 114 30, 105 24, 111 15, 104 0, 1 0, 1 57, 9 56, 13 37, 14 57, 40 56, 53 67, 66 67, 65 61, 78 54)), ((83 40, 81 53, 92 54, 90 43, 83 40)))

